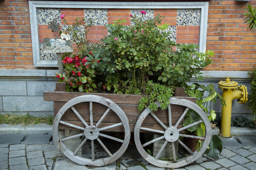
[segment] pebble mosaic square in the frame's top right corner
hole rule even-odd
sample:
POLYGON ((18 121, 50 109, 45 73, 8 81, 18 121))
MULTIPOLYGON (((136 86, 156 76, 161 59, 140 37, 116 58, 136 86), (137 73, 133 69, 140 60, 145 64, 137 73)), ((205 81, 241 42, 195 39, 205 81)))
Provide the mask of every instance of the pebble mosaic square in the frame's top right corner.
POLYGON ((177 26, 200 26, 201 9, 178 9, 177 26))

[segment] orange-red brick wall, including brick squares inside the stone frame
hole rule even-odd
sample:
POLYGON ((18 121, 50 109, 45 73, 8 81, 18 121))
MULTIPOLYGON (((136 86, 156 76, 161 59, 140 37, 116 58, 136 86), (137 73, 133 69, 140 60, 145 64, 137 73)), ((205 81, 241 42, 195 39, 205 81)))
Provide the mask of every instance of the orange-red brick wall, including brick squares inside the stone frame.
MULTIPOLYGON (((189 1, 189 0, 188 0, 189 1)), ((249 3, 256 5, 256 0, 249 3)), ((256 33, 247 30, 244 23, 246 2, 235 0, 210 0, 207 29, 207 50, 215 52, 214 64, 205 70, 247 71, 256 67, 256 33)), ((155 9, 155 15, 165 16, 163 23, 176 25, 176 9, 155 9)), ((72 23, 75 17, 83 16, 81 9, 61 9, 61 14, 72 23)), ((129 9, 108 9, 108 21, 127 20, 129 9)), ((178 43, 198 43, 199 26, 177 26, 178 43)), ((107 35, 104 26, 91 29, 91 42, 107 35)), ((39 26, 41 41, 52 32, 47 26, 39 26)), ((28 0, 5 0, 0 2, 0 68, 34 68, 28 0)))

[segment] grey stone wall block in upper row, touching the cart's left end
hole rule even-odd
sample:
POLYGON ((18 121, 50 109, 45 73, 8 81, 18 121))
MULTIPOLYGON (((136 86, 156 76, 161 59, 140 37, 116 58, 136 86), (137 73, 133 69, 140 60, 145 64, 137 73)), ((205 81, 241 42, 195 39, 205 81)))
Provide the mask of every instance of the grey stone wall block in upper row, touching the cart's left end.
POLYGON ((53 92, 55 81, 27 81, 27 95, 43 96, 44 92, 53 92))

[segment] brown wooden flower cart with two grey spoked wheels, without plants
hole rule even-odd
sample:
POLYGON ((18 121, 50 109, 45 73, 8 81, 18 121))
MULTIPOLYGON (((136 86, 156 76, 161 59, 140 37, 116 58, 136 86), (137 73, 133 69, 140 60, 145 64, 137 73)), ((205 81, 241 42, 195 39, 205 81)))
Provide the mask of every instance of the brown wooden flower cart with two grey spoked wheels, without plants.
MULTIPOLYGON (((196 99, 185 97, 181 89, 177 88, 175 97, 169 99, 168 109, 160 108, 152 112, 148 108, 140 113, 137 102, 140 95, 108 94, 108 93, 73 93, 65 92, 64 83, 56 83, 55 92, 45 92, 44 100, 54 101, 55 119, 53 123, 53 140, 55 146, 72 161, 81 165, 104 166, 119 159, 126 151, 131 132, 138 152, 151 164, 162 168, 178 168, 198 159, 210 143, 210 121, 201 108, 195 104, 196 99), (189 109, 194 110, 201 117, 197 122, 183 127, 184 116, 189 109), (204 123, 205 136, 186 135, 185 129, 204 123), (76 135, 62 137, 60 129, 81 130, 76 135), (113 136, 107 132, 122 132, 121 136, 113 136), (159 137, 145 139, 142 134, 158 134, 159 137), (81 144, 70 149, 65 141, 82 138, 81 144), (192 152, 183 142, 186 139, 202 141, 201 149, 192 152), (104 139, 119 143, 114 153, 110 152, 104 139), (82 145, 91 140, 91 157, 84 158, 77 155, 82 145), (154 143, 164 141, 155 155, 147 148, 154 143), (107 153, 105 157, 94 155, 94 142, 97 141, 107 153), (161 153, 166 145, 173 150, 170 157, 163 159, 161 153), (181 152, 181 153, 180 153, 181 152), (172 159, 170 159, 172 157, 172 159)), ((158 104, 158 107, 160 105, 158 104)))

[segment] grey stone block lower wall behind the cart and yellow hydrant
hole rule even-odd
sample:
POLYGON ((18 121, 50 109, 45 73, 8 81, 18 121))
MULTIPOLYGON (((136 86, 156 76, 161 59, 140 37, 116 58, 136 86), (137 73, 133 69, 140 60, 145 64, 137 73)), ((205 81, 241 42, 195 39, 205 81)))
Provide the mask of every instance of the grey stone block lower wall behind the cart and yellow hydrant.
MULTIPOLYGON (((30 114, 33 116, 53 116, 54 104, 44 101, 44 91, 54 91, 54 76, 58 70, 34 70, 34 69, 1 69, 0 70, 0 114, 30 114)), ((252 75, 242 71, 202 71, 205 79, 197 81, 192 78, 192 82, 203 85, 213 84, 215 90, 222 95, 222 90, 218 87, 220 80, 225 81, 229 76, 231 81, 238 82, 238 85, 246 85, 250 93, 250 82, 252 75)), ((207 94, 205 94, 205 97, 207 94)), ((210 109, 221 113, 221 104, 209 103, 210 109)), ((250 117, 251 110, 247 109, 247 104, 240 104, 236 100, 232 102, 232 117, 242 114, 250 117)))

